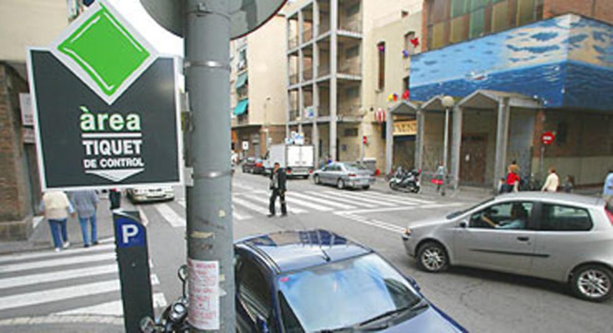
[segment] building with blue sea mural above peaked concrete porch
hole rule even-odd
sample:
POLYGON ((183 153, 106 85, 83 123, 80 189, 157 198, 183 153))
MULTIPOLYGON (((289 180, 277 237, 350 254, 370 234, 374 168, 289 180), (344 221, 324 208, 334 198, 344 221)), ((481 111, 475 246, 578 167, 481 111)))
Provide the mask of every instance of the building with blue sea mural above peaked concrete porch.
POLYGON ((511 161, 524 178, 554 166, 576 185, 602 183, 613 167, 612 24, 609 0, 425 0, 409 83, 418 166, 443 163, 447 133, 454 186, 496 187, 511 161))

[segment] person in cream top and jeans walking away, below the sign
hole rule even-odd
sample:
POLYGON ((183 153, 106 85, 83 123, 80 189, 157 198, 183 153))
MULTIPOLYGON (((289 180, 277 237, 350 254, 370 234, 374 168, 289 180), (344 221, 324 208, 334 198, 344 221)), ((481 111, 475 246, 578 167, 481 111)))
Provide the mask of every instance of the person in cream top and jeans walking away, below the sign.
POLYGON ((61 248, 69 247, 66 220, 69 213, 74 215, 74 208, 70 204, 66 193, 62 191, 45 192, 40 202, 40 211, 44 212, 45 218, 49 222, 55 251, 59 252, 61 248))

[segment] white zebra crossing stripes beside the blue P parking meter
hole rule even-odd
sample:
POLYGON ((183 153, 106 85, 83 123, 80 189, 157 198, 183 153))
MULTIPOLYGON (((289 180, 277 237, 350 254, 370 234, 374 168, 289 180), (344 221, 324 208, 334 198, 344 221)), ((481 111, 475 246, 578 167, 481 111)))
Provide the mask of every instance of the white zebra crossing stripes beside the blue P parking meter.
MULTIPOLYGON (((114 247, 114 244, 107 243, 90 248, 69 248, 59 253, 45 251, 1 256, 0 312, 72 299, 79 299, 83 304, 91 296, 100 295, 107 299, 104 303, 90 302, 83 307, 89 308, 89 314, 112 312, 122 315, 121 284, 114 247), (114 298, 112 302, 108 301, 109 297, 114 298)), ((151 285, 159 285, 155 274, 151 274, 151 285)), ((154 294, 156 305, 166 304, 164 294, 154 294)), ((77 313, 77 310, 65 312, 77 313)))

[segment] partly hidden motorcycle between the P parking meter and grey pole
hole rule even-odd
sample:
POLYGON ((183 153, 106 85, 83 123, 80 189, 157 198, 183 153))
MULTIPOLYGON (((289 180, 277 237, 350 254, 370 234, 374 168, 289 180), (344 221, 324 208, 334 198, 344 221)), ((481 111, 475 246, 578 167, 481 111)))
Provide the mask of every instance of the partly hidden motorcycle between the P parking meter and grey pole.
POLYGON ((188 266, 179 267, 177 272, 179 280, 183 283, 183 294, 175 302, 172 302, 160 315, 158 321, 150 317, 145 317, 140 321, 140 331, 145 333, 170 333, 170 332, 189 332, 188 305, 189 300, 186 293, 188 278, 188 266))

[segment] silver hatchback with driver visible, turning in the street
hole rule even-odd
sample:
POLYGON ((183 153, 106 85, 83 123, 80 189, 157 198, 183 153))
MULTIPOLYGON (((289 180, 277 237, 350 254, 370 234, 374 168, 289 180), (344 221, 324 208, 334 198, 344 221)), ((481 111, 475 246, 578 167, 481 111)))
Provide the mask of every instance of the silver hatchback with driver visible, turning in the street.
POLYGON ((582 299, 611 298, 613 206, 576 194, 503 194, 403 234, 427 272, 478 267, 568 282, 582 299))

